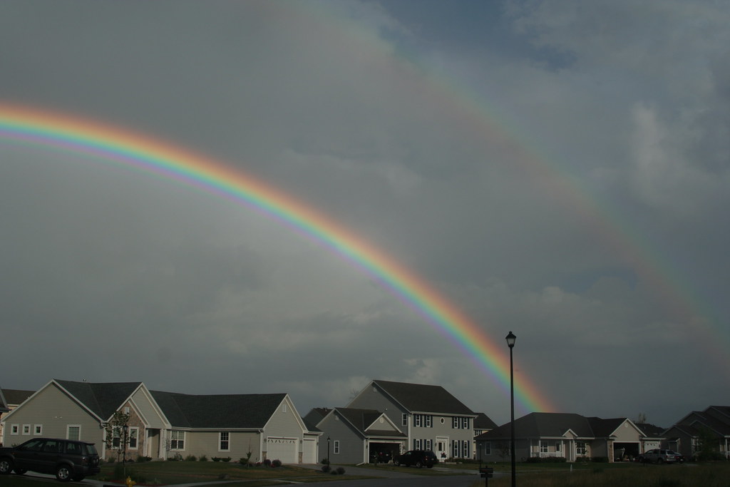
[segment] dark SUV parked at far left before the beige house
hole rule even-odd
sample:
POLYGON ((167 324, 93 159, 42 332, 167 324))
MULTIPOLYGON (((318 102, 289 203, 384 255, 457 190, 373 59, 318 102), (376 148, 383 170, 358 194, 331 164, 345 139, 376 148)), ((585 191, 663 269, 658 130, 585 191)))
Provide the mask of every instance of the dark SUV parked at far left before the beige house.
POLYGON ((83 480, 99 473, 99 454, 93 443, 56 438, 34 438, 13 448, 0 448, 0 474, 28 470, 55 474, 61 482, 83 480))

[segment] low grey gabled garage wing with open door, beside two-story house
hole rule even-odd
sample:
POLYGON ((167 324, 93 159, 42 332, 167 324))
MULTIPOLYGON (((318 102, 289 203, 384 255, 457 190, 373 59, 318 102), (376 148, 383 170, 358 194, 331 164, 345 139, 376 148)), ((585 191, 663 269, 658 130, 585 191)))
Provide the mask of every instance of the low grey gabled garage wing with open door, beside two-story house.
POLYGON ((407 438, 385 413, 353 407, 327 410, 317 428, 323 432, 319 458, 339 464, 374 462, 380 452, 397 456, 407 438))

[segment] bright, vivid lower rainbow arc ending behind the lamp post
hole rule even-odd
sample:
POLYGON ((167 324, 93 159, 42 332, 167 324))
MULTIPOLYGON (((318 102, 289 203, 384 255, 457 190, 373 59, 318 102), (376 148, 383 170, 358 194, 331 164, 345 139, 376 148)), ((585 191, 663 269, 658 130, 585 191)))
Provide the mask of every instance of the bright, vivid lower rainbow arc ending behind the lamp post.
MULTIPOLYGON (((499 383, 510 385, 505 330, 488 337, 469 317, 425 280, 322 212, 221 161, 134 133, 71 115, 0 104, 0 139, 15 145, 83 153, 147 174, 196 186, 241 202, 315 239, 377 279, 434 329, 449 337, 499 383), (497 345, 499 343, 499 346, 497 345), (503 350, 504 349, 504 350, 503 350)), ((526 377, 515 380, 515 399, 526 412, 554 410, 526 377)))

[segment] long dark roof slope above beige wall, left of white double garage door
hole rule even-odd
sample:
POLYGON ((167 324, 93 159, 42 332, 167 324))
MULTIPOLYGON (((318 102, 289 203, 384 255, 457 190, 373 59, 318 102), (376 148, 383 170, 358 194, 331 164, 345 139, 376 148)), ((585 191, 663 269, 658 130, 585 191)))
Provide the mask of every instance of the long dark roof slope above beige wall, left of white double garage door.
POLYGON ((150 391, 170 424, 177 428, 263 428, 286 394, 193 396, 150 391))

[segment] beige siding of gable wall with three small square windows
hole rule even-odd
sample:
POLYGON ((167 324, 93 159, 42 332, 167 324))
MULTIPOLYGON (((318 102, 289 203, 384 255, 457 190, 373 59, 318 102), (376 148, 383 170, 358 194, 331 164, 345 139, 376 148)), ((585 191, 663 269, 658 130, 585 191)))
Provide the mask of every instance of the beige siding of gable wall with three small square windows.
POLYGON ((66 438, 68 426, 73 425, 80 426, 81 440, 96 443, 97 448, 103 450, 104 429, 99 427, 99 420, 53 384, 42 388, 32 401, 13 410, 6 419, 3 445, 18 445, 34 436, 66 438), (12 424, 20 425, 18 434, 11 434, 12 424), (30 434, 23 434, 23 424, 31 425, 30 434), (34 435, 37 424, 42 426, 41 435, 34 435))

